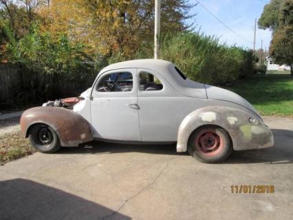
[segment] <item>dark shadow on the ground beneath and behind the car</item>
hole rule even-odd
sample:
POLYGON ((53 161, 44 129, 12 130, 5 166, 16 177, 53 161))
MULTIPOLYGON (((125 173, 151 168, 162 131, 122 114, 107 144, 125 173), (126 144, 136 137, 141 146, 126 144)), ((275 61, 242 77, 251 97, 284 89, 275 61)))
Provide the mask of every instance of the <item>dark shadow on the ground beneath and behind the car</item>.
MULTIPOLYGON (((292 163, 293 162, 293 131, 272 129, 274 147, 233 151, 223 163, 292 163)), ((189 156, 187 152, 177 153, 176 144, 122 144, 92 141, 78 148, 61 148, 58 154, 113 154, 124 152, 142 152, 145 154, 167 154, 189 156)))

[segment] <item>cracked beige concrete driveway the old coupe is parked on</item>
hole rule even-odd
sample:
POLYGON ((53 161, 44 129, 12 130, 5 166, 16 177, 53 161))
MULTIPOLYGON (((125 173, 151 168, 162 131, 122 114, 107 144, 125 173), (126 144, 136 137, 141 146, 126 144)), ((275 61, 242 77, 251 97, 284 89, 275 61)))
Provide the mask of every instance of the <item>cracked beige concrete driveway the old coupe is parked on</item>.
POLYGON ((0 219, 292 219, 293 120, 265 117, 274 148, 199 163, 175 146, 94 143, 0 167, 0 219), (273 185, 274 193, 230 186, 273 185))

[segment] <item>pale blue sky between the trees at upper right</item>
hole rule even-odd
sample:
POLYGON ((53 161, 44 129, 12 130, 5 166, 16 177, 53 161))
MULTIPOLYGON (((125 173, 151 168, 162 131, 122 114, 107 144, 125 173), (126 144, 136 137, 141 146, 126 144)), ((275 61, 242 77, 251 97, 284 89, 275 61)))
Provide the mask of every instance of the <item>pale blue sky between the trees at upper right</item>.
MULTIPOLYGON (((194 4, 197 0, 189 0, 189 2, 194 4)), ((197 4, 191 9, 190 14, 196 14, 191 22, 197 25, 196 30, 219 37, 221 43, 253 48, 254 19, 258 20, 261 17, 263 6, 268 2, 269 0, 199 0, 202 5, 197 4), (217 21, 204 7, 231 30, 217 21)), ((270 30, 257 28, 256 49, 261 48, 261 39, 263 39, 263 49, 268 50, 270 30)))

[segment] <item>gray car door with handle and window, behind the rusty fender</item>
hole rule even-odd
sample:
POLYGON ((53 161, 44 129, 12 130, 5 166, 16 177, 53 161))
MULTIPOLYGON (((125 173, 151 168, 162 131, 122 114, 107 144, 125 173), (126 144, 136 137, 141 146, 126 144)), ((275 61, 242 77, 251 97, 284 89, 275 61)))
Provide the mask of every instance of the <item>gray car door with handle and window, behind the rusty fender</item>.
POLYGON ((141 141, 138 119, 137 69, 104 72, 91 93, 94 137, 141 141))

